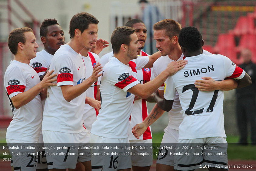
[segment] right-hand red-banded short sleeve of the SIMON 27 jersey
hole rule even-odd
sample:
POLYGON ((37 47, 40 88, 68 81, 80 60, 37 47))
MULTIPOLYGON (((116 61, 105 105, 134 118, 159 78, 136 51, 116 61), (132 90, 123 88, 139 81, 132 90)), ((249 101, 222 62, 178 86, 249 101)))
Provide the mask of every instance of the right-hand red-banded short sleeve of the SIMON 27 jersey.
POLYGON ((234 79, 240 80, 244 77, 245 71, 242 68, 236 66, 235 63, 232 62, 226 56, 223 56, 223 59, 224 59, 224 65, 225 65, 225 71, 226 71, 227 78, 234 78, 234 79))

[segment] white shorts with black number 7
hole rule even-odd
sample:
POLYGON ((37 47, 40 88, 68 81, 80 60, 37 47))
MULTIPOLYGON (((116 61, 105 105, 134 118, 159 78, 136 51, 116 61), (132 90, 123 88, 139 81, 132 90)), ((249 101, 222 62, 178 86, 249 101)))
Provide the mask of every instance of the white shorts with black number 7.
POLYGON ((48 169, 75 169, 77 161, 91 160, 89 131, 76 134, 45 130, 42 132, 48 169))

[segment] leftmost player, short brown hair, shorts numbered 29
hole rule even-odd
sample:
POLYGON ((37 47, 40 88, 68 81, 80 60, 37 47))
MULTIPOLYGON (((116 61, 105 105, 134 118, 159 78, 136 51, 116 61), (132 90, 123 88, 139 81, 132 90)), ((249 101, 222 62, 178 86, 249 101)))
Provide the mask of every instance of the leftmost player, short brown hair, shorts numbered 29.
POLYGON ((55 86, 56 84, 51 82, 57 80, 53 78, 57 74, 52 74, 52 70, 48 71, 40 82, 36 71, 29 66, 38 48, 35 41, 33 30, 28 27, 14 29, 8 37, 8 47, 15 57, 6 69, 4 85, 14 116, 7 128, 6 142, 16 146, 26 146, 25 143, 29 143, 31 146, 28 150, 19 151, 31 155, 12 156, 14 170, 36 170, 36 155, 32 154, 37 152, 36 146, 42 125, 42 100, 46 97, 46 88, 55 86))

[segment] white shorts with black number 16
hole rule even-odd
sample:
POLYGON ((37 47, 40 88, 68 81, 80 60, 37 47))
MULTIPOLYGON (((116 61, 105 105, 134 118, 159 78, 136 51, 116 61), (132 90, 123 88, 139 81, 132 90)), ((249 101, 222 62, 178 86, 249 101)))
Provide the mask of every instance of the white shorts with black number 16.
POLYGON ((91 134, 91 170, 114 171, 131 168, 128 138, 105 138, 91 134))

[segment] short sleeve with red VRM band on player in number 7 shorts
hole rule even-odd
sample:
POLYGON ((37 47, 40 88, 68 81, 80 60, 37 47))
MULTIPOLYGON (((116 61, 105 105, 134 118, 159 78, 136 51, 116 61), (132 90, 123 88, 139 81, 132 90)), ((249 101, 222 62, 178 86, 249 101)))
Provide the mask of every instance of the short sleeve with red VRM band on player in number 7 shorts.
POLYGON ((54 70, 57 75, 57 86, 74 85, 73 83, 73 62, 68 55, 61 55, 56 59, 54 70))

